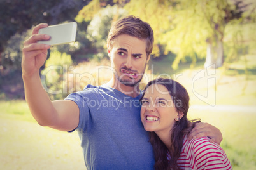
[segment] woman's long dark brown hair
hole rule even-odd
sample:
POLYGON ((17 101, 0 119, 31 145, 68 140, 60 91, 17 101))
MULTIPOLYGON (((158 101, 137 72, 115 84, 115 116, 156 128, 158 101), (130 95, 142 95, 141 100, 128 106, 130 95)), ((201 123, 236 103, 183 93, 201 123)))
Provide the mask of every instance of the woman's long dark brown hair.
POLYGON ((166 145, 164 145, 155 132, 150 132, 150 143, 153 146, 155 155, 155 169, 179 169, 177 160, 180 157, 184 135, 190 133, 195 124, 200 122, 200 119, 188 121, 189 95, 180 83, 172 79, 159 78, 148 82, 145 91, 152 84, 162 84, 165 86, 171 95, 177 112, 183 112, 184 114, 179 121, 175 122, 172 129, 170 160, 167 159, 168 148, 166 145))

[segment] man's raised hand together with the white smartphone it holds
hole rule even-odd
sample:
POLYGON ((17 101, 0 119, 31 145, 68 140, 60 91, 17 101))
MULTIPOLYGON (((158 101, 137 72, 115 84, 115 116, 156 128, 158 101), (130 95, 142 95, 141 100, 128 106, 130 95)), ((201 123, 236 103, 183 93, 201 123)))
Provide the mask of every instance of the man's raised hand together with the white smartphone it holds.
POLYGON ((38 75, 40 67, 45 63, 50 46, 74 42, 76 27, 76 22, 49 27, 47 23, 36 25, 32 30, 32 36, 24 42, 22 49, 22 75, 38 75))

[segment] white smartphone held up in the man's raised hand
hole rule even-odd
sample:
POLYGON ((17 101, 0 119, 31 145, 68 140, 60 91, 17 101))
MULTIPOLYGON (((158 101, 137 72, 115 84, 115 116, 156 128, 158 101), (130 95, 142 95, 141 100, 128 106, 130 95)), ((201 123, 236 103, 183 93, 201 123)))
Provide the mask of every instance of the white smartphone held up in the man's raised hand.
POLYGON ((46 28, 39 29, 39 34, 48 34, 50 37, 46 41, 38 41, 41 44, 48 44, 51 46, 60 44, 69 44, 76 40, 76 22, 62 23, 59 25, 52 25, 46 28))

